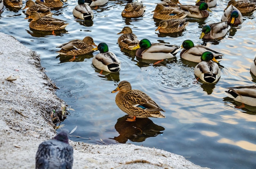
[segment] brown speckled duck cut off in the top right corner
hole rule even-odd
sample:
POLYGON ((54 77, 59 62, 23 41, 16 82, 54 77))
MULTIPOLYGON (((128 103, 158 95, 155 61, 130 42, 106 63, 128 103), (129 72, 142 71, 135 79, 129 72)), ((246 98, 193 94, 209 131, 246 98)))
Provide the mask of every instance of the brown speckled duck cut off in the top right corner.
MULTIPOLYGON (((227 4, 226 9, 230 6, 233 5, 234 7, 236 7, 241 13, 248 13, 248 12, 252 12, 255 9, 255 1, 251 2, 251 1, 236 1, 236 0, 230 0, 229 3, 227 4)), ((226 10, 224 9, 224 11, 226 10)))

